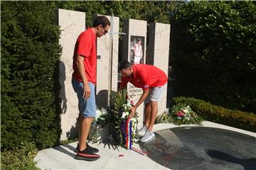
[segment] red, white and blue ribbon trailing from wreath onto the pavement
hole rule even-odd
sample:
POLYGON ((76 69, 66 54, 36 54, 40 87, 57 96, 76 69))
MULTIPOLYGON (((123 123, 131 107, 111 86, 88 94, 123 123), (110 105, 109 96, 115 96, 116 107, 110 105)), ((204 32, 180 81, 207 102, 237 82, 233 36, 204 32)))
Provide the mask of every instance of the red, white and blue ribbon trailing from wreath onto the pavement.
POLYGON ((127 135, 126 137, 127 149, 133 150, 142 155, 147 155, 146 152, 142 152, 141 150, 132 147, 132 120, 130 118, 127 118, 126 135, 127 135))

